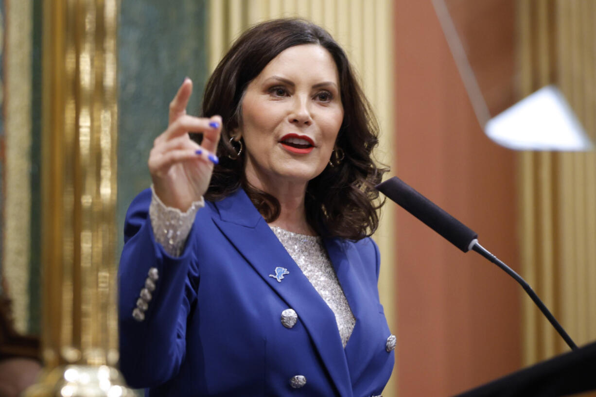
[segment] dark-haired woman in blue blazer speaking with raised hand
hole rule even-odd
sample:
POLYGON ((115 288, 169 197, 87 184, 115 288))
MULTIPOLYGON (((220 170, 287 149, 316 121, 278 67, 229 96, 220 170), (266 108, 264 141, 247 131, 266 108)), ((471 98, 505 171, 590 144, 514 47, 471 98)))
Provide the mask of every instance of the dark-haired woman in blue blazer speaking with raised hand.
POLYGON ((126 215, 120 367, 150 396, 380 395, 377 126, 349 61, 304 20, 247 30, 185 79, 126 215))

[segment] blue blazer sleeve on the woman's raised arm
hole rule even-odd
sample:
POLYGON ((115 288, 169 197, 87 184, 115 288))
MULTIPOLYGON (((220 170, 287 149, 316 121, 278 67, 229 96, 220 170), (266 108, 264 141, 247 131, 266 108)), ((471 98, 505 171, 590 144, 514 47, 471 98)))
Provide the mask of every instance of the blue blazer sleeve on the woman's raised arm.
POLYGON ((190 247, 194 226, 182 256, 168 255, 153 236, 148 216, 150 202, 151 190, 145 190, 126 213, 125 245, 118 272, 120 370, 132 387, 157 386, 178 373, 186 350, 187 317, 199 281, 190 247), (159 278, 154 282, 144 319, 138 321, 132 312, 153 268, 159 278))

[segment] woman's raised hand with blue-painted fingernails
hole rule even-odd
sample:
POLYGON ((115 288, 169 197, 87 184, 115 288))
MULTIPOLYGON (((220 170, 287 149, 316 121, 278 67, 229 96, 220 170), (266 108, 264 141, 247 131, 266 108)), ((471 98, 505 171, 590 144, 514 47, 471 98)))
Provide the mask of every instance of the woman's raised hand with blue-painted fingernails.
POLYGON ((167 129, 153 142, 148 160, 157 196, 166 206, 183 212, 209 187, 222 126, 220 116, 188 116, 192 92, 193 82, 187 77, 170 103, 167 129), (188 132, 202 132, 201 145, 191 140, 188 132))

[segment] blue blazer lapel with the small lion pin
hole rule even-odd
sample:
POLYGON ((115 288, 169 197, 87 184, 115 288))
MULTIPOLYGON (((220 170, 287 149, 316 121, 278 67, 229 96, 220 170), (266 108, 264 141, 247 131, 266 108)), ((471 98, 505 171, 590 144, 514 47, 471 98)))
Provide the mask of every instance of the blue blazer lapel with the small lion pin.
MULTIPOLYGON (((281 299, 293 308, 311 336, 341 396, 352 396, 349 370, 335 316, 271 231, 243 190, 215 203, 218 228, 281 299), (275 268, 288 272, 281 282, 275 268)), ((351 302, 350 302, 351 303, 351 302)))

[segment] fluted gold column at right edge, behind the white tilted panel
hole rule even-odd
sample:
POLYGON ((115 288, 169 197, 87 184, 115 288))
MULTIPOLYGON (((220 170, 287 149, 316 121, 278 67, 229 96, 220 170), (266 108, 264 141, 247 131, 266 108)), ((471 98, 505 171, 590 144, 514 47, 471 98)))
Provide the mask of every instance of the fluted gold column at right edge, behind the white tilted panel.
MULTIPOLYGON (((555 83, 596 141, 596 0, 520 0, 521 94, 555 83)), ((526 280, 578 345, 596 338, 596 155, 520 156, 526 280)), ((524 303, 524 364, 567 349, 524 303)))

